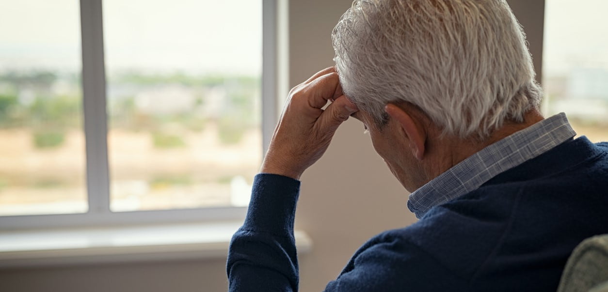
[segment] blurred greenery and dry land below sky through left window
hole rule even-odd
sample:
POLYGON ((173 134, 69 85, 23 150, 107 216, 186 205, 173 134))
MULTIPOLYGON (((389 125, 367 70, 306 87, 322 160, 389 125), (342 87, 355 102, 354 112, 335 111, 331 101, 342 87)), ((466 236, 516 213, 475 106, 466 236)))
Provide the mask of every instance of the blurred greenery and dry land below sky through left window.
MULTIPOLYGON (((108 78, 112 210, 244 205, 261 161, 260 80, 108 78)), ((0 214, 86 211, 80 76, 0 74, 0 214)))

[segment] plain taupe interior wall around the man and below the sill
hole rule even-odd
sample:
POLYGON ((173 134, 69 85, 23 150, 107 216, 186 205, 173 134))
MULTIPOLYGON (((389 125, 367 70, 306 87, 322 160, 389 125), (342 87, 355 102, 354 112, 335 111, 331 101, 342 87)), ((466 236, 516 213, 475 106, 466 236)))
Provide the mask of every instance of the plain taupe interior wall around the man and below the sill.
MULTIPOLYGON (((541 70, 543 0, 511 0, 541 70)), ((291 0, 289 83, 333 66, 330 33, 351 0, 291 0)), ((539 74, 540 76, 540 74, 539 74)), ((300 291, 320 291, 356 249, 386 229, 415 222, 407 192, 351 119, 325 156, 302 177, 296 226, 313 250, 300 256, 300 291)), ((0 270, 0 291, 226 291, 225 259, 0 270)))

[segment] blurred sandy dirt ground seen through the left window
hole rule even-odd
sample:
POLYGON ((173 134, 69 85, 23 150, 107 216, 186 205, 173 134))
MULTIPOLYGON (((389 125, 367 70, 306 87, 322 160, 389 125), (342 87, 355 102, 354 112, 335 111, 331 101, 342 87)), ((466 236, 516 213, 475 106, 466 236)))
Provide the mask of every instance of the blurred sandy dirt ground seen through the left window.
MULTIPOLYGON (((258 171, 261 134, 249 131, 230 145, 217 137, 209 125, 183 134, 183 148, 157 149, 149 133, 110 131, 112 209, 231 205, 258 171)), ((80 131, 56 149, 36 149, 26 130, 0 131, 0 215, 86 211, 85 157, 80 131)))

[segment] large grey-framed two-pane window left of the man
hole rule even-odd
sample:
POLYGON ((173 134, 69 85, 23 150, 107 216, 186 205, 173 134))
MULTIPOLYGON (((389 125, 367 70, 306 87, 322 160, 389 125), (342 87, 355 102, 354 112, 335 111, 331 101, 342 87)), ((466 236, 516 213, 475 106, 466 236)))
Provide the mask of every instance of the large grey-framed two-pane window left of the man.
POLYGON ((243 216, 275 122, 275 4, 3 5, 0 226, 243 216))

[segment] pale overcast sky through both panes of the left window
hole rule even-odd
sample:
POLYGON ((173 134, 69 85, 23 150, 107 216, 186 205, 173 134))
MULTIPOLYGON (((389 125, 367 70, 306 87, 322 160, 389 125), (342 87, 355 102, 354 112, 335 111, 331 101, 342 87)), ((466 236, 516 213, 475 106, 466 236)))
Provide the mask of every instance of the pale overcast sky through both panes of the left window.
MULTIPOLYGON (((0 0, 0 71, 79 70, 77 0, 0 0)), ((104 0, 106 70, 261 72, 261 0, 104 0)))

